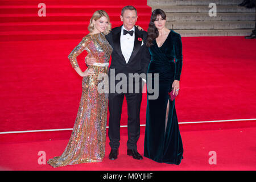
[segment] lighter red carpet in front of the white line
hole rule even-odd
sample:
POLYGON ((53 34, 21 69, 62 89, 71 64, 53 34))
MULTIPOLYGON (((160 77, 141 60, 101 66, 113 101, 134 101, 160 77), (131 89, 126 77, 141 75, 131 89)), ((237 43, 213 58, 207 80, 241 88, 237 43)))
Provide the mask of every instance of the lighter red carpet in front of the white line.
MULTIPOLYGON (((53 168, 38 164, 39 151, 46 152, 46 160, 60 155, 68 140, 46 142, 0 144, 0 170, 100 170, 100 171, 173 171, 173 170, 255 170, 255 128, 186 131, 181 133, 184 159, 179 166, 156 163, 143 158, 135 160, 126 155, 127 136, 122 135, 117 160, 109 160, 109 139, 106 140, 106 155, 101 163, 86 163, 53 168), (217 164, 209 164, 209 152, 216 152, 217 164)), ((138 151, 143 154, 144 135, 138 142, 138 151)))

